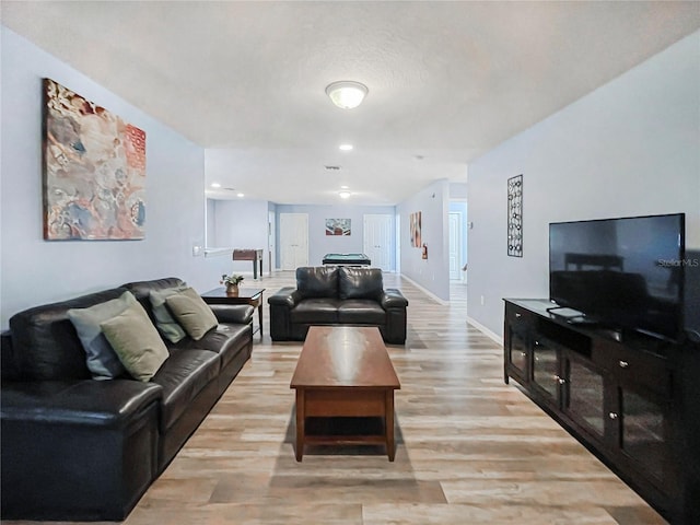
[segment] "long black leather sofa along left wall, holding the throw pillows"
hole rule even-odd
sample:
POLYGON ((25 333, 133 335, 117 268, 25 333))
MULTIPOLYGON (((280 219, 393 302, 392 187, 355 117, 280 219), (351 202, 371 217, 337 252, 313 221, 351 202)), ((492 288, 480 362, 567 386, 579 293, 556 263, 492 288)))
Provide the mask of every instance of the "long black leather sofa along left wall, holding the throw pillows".
POLYGON ((128 290, 154 322, 151 291, 183 285, 176 278, 132 282, 10 319, 2 337, 3 521, 125 518, 205 419, 250 357, 252 306, 212 305, 219 325, 199 340, 164 338, 170 355, 147 382, 93 378, 68 316, 128 290))

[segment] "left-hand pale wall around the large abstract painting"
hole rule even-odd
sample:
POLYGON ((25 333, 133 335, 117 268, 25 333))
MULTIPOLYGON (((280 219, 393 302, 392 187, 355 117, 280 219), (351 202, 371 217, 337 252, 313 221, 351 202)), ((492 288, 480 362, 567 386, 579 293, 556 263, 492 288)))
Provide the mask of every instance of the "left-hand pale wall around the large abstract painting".
MULTIPOLYGON (((176 276, 218 284, 205 243, 203 150, 26 39, 1 32, 1 328, 30 306, 127 281, 176 276), (147 133, 143 241, 46 242, 42 225, 42 79, 50 78, 147 133)), ((176 110, 176 109, 174 109, 176 110)))

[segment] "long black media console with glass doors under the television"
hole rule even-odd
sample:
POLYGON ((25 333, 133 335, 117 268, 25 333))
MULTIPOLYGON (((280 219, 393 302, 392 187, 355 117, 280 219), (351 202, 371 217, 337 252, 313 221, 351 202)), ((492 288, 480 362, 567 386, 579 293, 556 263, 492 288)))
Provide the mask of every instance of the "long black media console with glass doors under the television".
POLYGON ((505 300, 504 381, 672 524, 700 523, 700 346, 568 323, 505 300))

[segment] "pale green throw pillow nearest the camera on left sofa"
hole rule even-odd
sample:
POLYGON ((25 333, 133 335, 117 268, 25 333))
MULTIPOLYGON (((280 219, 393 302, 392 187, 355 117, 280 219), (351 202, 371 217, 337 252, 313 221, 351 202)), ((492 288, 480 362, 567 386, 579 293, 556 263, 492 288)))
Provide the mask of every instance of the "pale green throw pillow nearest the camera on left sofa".
POLYGON ((132 377, 150 381, 170 353, 160 334, 139 303, 100 325, 132 377))

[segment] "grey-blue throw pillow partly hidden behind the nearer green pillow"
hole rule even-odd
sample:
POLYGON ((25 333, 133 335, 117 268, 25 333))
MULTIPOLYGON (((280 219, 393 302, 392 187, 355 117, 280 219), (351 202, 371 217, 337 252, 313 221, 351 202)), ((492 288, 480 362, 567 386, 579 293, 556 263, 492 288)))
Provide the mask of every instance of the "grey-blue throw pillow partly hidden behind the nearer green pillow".
POLYGON ((115 315, 119 315, 137 300, 131 292, 124 292, 119 298, 95 304, 89 308, 71 308, 68 318, 71 320, 85 349, 88 370, 94 380, 112 380, 124 374, 119 358, 112 349, 100 328, 100 324, 115 315))

